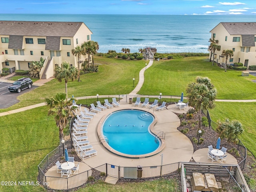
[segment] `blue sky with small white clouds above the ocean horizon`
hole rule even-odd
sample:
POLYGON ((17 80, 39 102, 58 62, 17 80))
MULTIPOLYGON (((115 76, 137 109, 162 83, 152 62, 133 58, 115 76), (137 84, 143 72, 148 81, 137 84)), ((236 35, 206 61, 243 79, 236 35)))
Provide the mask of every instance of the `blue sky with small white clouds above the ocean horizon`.
POLYGON ((0 0, 0 14, 256 15, 256 0, 0 0))

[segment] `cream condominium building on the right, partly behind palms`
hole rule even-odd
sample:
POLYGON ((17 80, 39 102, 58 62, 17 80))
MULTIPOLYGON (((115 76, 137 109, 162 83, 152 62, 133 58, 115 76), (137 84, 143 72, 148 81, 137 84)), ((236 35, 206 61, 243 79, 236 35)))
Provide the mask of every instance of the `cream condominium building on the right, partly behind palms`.
POLYGON ((215 62, 225 63, 226 58, 222 56, 222 52, 228 49, 233 50, 234 56, 228 58, 227 64, 240 62, 247 68, 256 65, 256 22, 221 22, 210 33, 221 46, 220 51, 215 51, 215 62))

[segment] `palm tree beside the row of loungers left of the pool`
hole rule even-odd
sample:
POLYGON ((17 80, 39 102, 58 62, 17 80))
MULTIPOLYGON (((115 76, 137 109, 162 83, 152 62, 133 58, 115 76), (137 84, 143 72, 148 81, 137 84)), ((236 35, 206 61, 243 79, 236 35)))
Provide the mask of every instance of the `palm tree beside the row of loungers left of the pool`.
POLYGON ((56 125, 59 128, 60 144, 64 138, 63 129, 68 124, 68 118, 74 116, 76 106, 72 106, 72 99, 66 100, 66 93, 57 93, 55 97, 46 98, 46 103, 50 106, 48 115, 54 115, 56 125), (70 106, 72 106, 70 108, 70 106))

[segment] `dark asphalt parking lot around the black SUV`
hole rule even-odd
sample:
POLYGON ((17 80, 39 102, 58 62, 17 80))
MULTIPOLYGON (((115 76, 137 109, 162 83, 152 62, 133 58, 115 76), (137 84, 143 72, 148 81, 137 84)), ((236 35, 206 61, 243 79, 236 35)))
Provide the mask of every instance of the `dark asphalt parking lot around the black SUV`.
POLYGON ((32 86, 30 89, 24 89, 20 93, 10 92, 8 86, 12 85, 11 83, 0 82, 0 109, 8 108, 19 102, 17 99, 18 96, 34 90, 37 86, 32 86))

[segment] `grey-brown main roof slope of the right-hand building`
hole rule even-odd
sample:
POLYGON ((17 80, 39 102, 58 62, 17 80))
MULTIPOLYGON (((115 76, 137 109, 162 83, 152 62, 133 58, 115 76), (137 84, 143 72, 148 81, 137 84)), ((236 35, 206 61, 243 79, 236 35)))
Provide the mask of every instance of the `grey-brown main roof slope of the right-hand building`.
POLYGON ((221 22, 230 35, 255 35, 256 22, 221 22))

